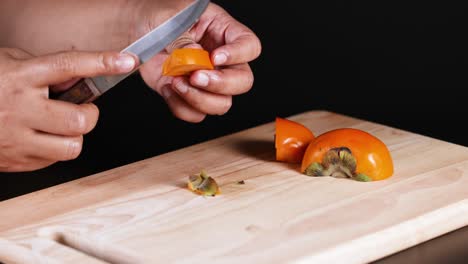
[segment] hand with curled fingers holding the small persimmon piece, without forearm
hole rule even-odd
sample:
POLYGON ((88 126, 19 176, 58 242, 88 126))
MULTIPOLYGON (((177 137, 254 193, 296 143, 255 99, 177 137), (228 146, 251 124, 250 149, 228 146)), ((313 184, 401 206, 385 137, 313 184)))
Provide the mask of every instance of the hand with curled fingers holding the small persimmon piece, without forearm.
POLYGON ((210 51, 215 70, 196 71, 188 78, 161 76, 161 65, 168 56, 161 53, 142 65, 140 73, 165 98, 175 116, 200 122, 206 115, 226 113, 232 96, 252 88, 254 76, 248 63, 260 55, 261 44, 249 28, 213 3, 188 34, 199 47, 210 51))

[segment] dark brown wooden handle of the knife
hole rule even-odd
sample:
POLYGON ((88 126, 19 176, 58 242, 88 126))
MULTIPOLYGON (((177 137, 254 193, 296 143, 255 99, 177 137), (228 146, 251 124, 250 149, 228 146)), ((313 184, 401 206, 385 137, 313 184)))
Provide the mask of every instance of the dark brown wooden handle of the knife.
POLYGON ((75 104, 89 103, 101 95, 91 79, 83 79, 73 85, 70 89, 55 96, 53 99, 75 104))

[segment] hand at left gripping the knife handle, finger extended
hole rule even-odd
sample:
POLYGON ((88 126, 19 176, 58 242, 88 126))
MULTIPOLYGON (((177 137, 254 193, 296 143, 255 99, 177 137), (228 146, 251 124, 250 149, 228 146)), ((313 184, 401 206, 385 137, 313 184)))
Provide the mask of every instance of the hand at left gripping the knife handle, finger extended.
POLYGON ((97 123, 98 108, 51 100, 49 86, 128 73, 136 63, 133 56, 118 52, 33 57, 0 48, 0 171, 32 171, 77 158, 83 135, 97 123))

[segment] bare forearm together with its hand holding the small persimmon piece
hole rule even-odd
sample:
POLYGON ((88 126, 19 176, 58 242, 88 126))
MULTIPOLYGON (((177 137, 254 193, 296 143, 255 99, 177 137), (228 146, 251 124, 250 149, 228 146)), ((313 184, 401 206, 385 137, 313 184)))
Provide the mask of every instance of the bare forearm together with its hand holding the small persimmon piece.
MULTIPOLYGON (((23 3, 26 10, 15 1, 2 2, 0 22, 2 17, 13 20, 0 23, 0 45, 21 47, 35 55, 72 49, 119 51, 190 2, 83 0, 57 4, 52 0, 28 0, 23 3), (44 14, 47 20, 43 19, 44 14), (11 25, 15 30, 10 30, 11 25), (57 32, 60 38, 56 37, 57 32)), ((210 51, 215 70, 194 72, 190 78, 162 77, 161 65, 168 54, 161 53, 143 65, 140 73, 166 99, 177 117, 200 122, 207 114, 226 113, 232 96, 252 88, 254 76, 248 63, 260 55, 261 44, 252 30, 214 3, 209 4, 189 34, 200 47, 210 51)))

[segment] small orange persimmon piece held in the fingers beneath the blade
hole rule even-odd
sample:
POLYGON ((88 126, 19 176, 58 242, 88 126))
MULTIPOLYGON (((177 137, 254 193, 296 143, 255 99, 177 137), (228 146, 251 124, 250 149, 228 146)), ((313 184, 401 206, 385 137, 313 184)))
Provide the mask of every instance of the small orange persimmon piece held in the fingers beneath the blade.
POLYGON ((174 49, 164 61, 164 76, 182 76, 196 70, 213 70, 210 54, 204 49, 174 49))

